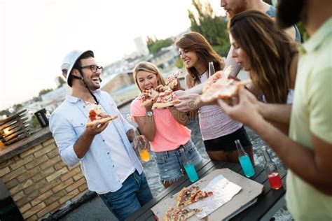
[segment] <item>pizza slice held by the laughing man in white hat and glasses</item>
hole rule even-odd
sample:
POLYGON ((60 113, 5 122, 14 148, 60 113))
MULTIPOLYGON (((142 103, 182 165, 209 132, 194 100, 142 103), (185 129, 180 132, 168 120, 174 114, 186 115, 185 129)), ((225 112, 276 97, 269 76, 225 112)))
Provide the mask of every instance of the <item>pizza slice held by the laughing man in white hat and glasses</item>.
POLYGON ((90 102, 86 102, 86 106, 89 109, 89 115, 88 115, 89 120, 88 123, 85 124, 86 127, 92 127, 96 123, 104 124, 118 117, 117 115, 114 116, 108 115, 97 104, 91 104, 90 102))

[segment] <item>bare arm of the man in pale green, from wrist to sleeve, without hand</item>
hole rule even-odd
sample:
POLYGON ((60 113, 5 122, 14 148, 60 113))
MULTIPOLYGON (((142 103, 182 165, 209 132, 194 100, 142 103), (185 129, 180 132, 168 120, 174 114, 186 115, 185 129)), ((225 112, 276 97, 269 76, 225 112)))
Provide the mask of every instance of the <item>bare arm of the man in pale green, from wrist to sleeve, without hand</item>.
POLYGON ((332 196, 332 145, 311 134, 313 150, 292 141, 261 118, 253 119, 254 129, 282 162, 317 190, 332 196))

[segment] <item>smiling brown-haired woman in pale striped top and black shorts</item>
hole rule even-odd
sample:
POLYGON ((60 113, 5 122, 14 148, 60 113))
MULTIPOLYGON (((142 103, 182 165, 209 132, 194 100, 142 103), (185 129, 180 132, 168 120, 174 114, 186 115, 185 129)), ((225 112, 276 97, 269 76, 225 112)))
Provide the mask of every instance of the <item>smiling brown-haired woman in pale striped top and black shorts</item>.
MULTIPOLYGON (((207 39, 198 32, 184 34, 175 44, 186 67, 187 90, 207 80, 209 62, 213 62, 215 71, 221 71, 225 65, 223 59, 216 54, 207 39)), ((196 94, 196 96, 199 95, 196 94)), ((205 150, 212 160, 238 163, 235 140, 239 139, 251 161, 254 162, 251 142, 240 122, 232 120, 216 104, 196 106, 193 109, 198 109, 200 131, 205 150)))

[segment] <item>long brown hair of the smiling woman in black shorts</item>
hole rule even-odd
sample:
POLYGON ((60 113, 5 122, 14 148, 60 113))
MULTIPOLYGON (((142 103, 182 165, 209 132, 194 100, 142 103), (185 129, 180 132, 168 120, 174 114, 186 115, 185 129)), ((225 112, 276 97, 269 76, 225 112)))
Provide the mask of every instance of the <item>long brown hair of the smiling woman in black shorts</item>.
MULTIPOLYGON (((175 45, 177 48, 196 52, 198 59, 203 62, 206 68, 209 67, 209 62, 213 62, 215 71, 220 71, 225 66, 223 59, 213 50, 207 39, 198 32, 191 31, 184 34, 176 41, 175 45)), ((186 70, 190 76, 190 87, 201 83, 200 73, 194 67, 186 68, 186 70)))

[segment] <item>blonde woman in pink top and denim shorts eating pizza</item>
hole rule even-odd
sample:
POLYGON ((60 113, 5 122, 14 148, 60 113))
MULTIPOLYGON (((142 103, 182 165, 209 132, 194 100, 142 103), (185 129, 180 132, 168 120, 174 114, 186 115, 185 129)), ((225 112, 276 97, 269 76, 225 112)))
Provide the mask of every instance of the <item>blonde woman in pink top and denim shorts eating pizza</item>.
MULTIPOLYGON (((150 62, 139 62, 133 76, 141 92, 165 85, 159 69, 150 62)), ((191 130, 186 127, 188 116, 185 112, 174 107, 152 110, 152 104, 141 106, 141 100, 137 98, 130 105, 130 113, 141 134, 150 141, 164 187, 183 176, 184 157, 189 158, 195 166, 202 162, 202 157, 191 141, 191 130)))

